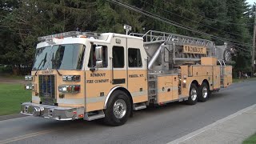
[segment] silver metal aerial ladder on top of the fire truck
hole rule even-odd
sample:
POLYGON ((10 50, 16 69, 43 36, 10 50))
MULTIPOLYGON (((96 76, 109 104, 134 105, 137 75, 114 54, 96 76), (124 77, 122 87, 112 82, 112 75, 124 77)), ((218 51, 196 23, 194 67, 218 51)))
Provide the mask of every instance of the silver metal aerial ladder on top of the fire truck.
MULTIPOLYGON (((174 47, 173 60, 175 62, 194 62, 200 61, 202 57, 217 57, 218 54, 216 51, 217 47, 215 43, 202 39, 202 38, 193 38, 179 34, 171 34, 156 30, 149 30, 146 34, 138 34, 138 33, 131 33, 131 36, 141 37, 144 40, 144 45, 149 46, 150 44, 154 43, 162 43, 166 42, 167 45, 171 45, 174 47), (190 54, 190 53, 183 53, 183 46, 203 46, 206 47, 206 54, 190 54)), ((150 47, 150 46, 149 46, 150 47)))

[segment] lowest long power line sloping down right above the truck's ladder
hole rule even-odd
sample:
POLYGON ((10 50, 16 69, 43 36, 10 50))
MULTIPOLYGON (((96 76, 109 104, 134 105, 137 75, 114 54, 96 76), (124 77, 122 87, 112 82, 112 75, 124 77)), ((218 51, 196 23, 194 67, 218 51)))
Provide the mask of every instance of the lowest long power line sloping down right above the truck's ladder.
POLYGON ((194 30, 190 27, 187 27, 187 26, 183 26, 182 24, 179 24, 178 22, 174 22, 174 21, 171 21, 170 19, 167 19, 167 18, 162 18, 161 16, 157 15, 157 14, 153 14, 153 13, 150 13, 149 11, 146 11, 146 10, 142 10, 142 9, 139 9, 138 7, 136 6, 130 6, 129 4, 127 4, 126 2, 117 2, 115 0, 106 0, 108 2, 112 2, 114 4, 117 4, 118 6, 122 6, 122 7, 125 7, 126 9, 129 9, 129 10, 133 10, 135 12, 138 12, 139 14, 143 14, 143 15, 146 15, 150 18, 154 18, 154 19, 157 19, 159 21, 162 21, 162 22, 166 22, 170 25, 173 25, 173 26, 177 26, 179 28, 182 28, 184 30, 190 30, 192 32, 195 32, 195 33, 198 33, 198 34, 204 34, 204 35, 208 35, 212 38, 217 38, 217 39, 220 39, 222 40, 223 42, 230 42, 230 43, 234 43, 236 45, 239 45, 239 46, 251 46, 250 44, 248 43, 240 43, 240 42, 235 42, 234 40, 231 40, 231 39, 226 39, 226 38, 220 38, 218 36, 215 36, 215 35, 212 35, 212 34, 207 34, 205 32, 202 32, 202 31, 199 31, 199 30, 194 30))

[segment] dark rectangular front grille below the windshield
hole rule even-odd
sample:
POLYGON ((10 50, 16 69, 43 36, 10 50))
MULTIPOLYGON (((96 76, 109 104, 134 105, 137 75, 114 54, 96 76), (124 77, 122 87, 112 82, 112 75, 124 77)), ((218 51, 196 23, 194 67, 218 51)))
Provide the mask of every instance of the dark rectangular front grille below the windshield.
POLYGON ((39 75, 39 96, 43 99, 55 98, 55 75, 39 75))

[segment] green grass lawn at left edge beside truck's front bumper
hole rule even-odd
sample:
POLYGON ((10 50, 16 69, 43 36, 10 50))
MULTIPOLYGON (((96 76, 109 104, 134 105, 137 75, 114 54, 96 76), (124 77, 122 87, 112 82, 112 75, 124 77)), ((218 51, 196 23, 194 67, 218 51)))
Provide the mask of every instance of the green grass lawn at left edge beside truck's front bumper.
POLYGON ((0 83, 0 115, 18 114, 22 102, 31 101, 31 91, 23 84, 0 83))

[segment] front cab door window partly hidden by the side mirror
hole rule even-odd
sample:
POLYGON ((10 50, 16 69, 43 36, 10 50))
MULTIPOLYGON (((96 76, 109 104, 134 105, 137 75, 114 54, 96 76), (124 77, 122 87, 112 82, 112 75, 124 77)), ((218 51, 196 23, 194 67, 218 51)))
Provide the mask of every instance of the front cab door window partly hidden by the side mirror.
MULTIPOLYGON (((96 47, 96 45, 94 45, 92 47, 92 49, 90 50, 90 58, 89 58, 89 62, 88 62, 88 67, 96 66, 95 47, 96 47)), ((107 67, 107 47, 102 46, 102 48, 103 48, 103 54, 102 54, 103 67, 107 67)))

